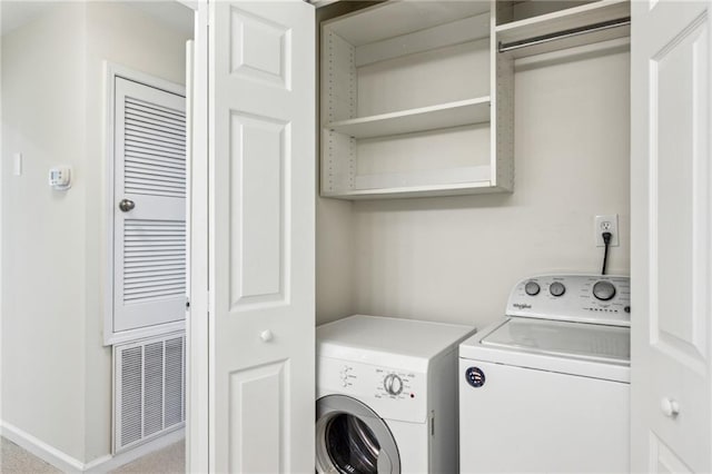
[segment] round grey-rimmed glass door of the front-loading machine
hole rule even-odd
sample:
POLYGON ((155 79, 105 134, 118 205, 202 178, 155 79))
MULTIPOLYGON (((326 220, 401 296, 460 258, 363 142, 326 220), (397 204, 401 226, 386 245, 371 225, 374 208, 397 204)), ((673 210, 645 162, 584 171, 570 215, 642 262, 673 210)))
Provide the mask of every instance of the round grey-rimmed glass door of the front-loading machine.
POLYGON ((376 412, 356 398, 327 395, 316 402, 316 471, 400 474, 400 456, 376 412))

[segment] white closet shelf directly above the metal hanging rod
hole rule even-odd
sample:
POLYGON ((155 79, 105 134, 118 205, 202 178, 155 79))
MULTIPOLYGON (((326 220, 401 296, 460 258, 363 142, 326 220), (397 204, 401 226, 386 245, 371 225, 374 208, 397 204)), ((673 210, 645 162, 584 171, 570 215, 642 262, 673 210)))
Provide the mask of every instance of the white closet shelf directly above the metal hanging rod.
MULTIPOLYGON (((511 43, 563 30, 616 20, 630 14, 631 3, 629 0, 599 0, 553 13, 500 24, 495 27, 495 32, 497 41, 511 43)), ((623 34, 621 29, 614 28, 610 30, 607 38, 597 40, 619 38, 621 34, 623 34)))

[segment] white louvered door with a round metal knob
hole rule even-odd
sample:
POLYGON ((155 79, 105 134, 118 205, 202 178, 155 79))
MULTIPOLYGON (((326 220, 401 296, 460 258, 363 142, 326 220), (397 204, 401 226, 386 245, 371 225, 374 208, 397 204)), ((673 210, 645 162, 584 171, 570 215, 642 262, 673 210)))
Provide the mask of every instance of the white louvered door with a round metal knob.
POLYGON ((116 79, 113 333, 185 317, 185 98, 116 79))

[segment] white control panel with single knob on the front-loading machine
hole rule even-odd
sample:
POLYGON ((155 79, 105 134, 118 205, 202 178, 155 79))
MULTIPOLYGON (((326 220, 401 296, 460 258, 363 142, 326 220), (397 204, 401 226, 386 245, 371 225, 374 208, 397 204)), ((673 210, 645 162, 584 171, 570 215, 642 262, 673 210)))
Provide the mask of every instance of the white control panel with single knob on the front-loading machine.
POLYGON ((322 356, 317 395, 350 395, 384 418, 424 423, 426 378, 426 374, 414 371, 322 356))

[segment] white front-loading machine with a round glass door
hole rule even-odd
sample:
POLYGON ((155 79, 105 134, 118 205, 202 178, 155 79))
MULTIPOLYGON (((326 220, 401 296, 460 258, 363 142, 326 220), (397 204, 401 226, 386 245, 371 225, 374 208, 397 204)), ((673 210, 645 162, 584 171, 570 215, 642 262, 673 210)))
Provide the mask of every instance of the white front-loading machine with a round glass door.
POLYGON ((317 472, 457 472, 457 346, 474 330, 364 315, 317 327, 317 472))

